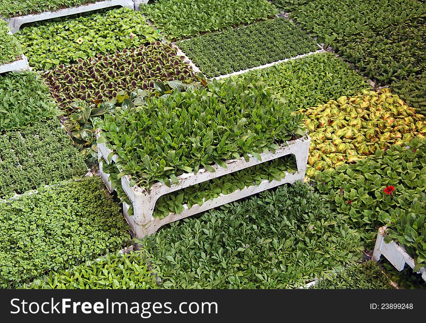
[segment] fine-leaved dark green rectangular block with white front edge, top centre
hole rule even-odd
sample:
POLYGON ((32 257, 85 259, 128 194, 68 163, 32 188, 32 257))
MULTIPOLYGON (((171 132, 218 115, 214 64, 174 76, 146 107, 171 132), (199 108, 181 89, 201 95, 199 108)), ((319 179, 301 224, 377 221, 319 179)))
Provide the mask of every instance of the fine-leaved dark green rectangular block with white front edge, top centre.
POLYGON ((177 45, 209 78, 320 49, 309 36, 283 18, 207 33, 177 45))

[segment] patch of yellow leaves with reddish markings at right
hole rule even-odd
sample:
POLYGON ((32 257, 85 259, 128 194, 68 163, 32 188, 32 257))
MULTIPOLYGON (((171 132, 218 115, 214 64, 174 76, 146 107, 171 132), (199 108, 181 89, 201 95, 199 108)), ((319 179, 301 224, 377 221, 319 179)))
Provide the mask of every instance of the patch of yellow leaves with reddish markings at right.
POLYGON ((311 136, 308 176, 374 155, 379 148, 426 138, 425 117, 386 88, 339 97, 302 113, 311 136))

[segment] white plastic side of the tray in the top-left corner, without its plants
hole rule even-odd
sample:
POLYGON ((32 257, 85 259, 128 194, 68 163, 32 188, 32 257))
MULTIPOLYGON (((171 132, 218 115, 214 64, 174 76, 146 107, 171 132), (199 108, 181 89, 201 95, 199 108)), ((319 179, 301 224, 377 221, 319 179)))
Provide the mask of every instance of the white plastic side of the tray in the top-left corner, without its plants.
POLYGON ((76 15, 76 14, 81 14, 88 11, 94 11, 94 10, 99 10, 99 9, 104 9, 109 7, 115 7, 115 6, 122 6, 122 7, 127 7, 130 9, 135 8, 135 4, 133 3, 133 0, 105 0, 105 1, 84 4, 74 8, 60 9, 58 11, 46 11, 40 14, 17 16, 10 19, 6 19, 6 21, 9 22, 9 27, 12 28, 12 33, 15 33, 19 31, 19 28, 21 28, 23 24, 26 24, 29 22, 76 15))

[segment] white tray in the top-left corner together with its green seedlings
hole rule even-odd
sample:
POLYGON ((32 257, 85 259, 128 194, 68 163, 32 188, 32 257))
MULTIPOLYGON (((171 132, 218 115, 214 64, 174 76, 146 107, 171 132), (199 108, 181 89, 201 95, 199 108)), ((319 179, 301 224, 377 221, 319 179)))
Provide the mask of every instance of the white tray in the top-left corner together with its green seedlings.
POLYGON ((0 16, 6 18, 9 27, 12 29, 12 33, 19 31, 23 24, 31 22, 71 16, 116 6, 134 8, 133 0, 75 0, 69 8, 67 8, 70 5, 69 1, 64 0, 56 0, 54 3, 52 1, 46 3, 46 0, 19 2, 21 3, 16 4, 16 1, 12 1, 12 3, 11 1, 3 1, 0 7, 0 16), (76 6, 73 7, 73 5, 76 6), (46 9, 52 11, 46 11, 46 9))

